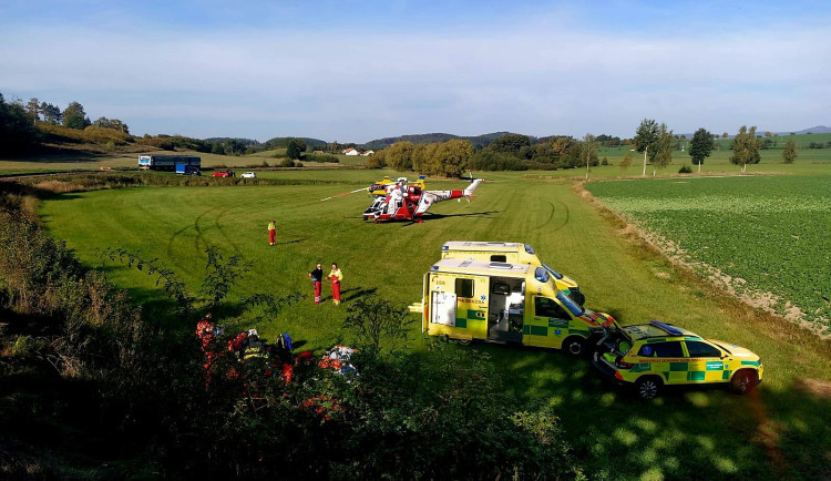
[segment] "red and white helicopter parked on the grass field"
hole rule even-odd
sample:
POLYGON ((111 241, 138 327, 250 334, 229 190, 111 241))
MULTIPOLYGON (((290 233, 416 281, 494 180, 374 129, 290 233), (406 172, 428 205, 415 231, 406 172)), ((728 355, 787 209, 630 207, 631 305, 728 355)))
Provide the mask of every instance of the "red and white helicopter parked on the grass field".
MULTIPOLYGON (((365 221, 373 221, 376 224, 386 221, 416 221, 422 222, 421 216, 435 203, 462 197, 470 199, 482 178, 472 182, 463 191, 425 191, 418 183, 412 185, 404 182, 396 183, 391 188, 388 186, 386 196, 377 196, 372 204, 363 212, 365 221)), ((421 185, 423 186, 423 180, 421 185)))

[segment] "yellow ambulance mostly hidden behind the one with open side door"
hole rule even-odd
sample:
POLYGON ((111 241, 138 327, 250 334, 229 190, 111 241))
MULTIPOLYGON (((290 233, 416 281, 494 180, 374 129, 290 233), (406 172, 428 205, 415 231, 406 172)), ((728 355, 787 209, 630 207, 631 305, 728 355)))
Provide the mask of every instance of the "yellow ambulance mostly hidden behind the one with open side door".
POLYGON ((550 266, 543 264, 533 247, 522 243, 497 243, 480 240, 450 240, 441 246, 443 259, 473 259, 496 263, 530 264, 545 268, 554 278, 557 288, 571 297, 572 300, 585 304, 586 296, 571 277, 564 276, 550 266))

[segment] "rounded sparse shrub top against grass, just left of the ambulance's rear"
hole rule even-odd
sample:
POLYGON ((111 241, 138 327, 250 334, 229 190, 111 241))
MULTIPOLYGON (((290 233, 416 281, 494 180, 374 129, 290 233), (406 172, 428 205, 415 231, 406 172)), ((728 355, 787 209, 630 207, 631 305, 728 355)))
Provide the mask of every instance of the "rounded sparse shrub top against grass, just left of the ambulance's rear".
POLYGON ((343 328, 355 331, 361 346, 381 351, 381 342, 389 348, 403 348, 413 319, 406 306, 396 306, 377 295, 360 297, 349 305, 343 328))

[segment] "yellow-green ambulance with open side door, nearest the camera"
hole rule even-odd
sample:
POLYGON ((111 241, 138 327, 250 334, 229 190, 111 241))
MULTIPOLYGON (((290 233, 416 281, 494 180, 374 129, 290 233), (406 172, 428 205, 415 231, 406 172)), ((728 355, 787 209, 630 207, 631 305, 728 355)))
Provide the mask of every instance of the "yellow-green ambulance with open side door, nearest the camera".
POLYGON ((431 336, 579 355, 616 326, 612 316, 585 310, 568 298, 542 266, 441 259, 423 283, 422 300, 410 310, 422 314, 422 330, 431 336))

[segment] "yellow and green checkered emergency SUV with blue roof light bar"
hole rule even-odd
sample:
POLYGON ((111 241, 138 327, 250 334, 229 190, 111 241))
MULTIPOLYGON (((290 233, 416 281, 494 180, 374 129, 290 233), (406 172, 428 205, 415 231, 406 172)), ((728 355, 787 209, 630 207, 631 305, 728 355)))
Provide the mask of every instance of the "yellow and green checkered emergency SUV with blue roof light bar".
POLYGON ((753 352, 657 320, 611 328, 597 342, 594 367, 619 385, 634 386, 643 399, 673 385, 729 383, 743 395, 762 379, 753 352))

